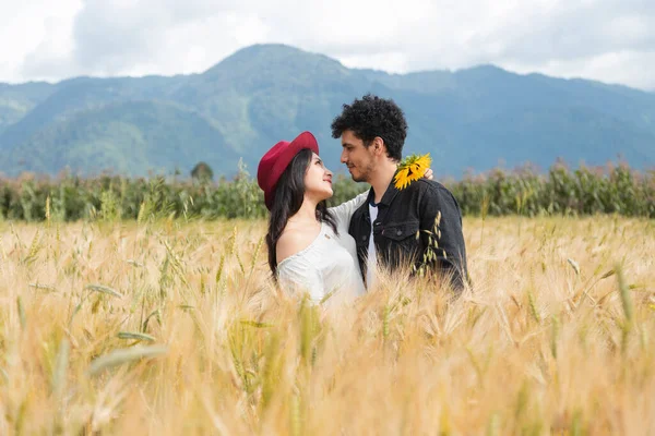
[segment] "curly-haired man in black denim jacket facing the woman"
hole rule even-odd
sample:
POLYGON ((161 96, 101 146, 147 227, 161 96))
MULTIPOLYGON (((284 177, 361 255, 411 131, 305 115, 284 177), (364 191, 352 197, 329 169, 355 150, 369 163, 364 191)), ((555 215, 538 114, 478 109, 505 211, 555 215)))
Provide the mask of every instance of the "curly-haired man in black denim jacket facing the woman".
POLYGON ((366 95, 344 105, 332 122, 332 136, 341 137, 341 161, 353 180, 371 185, 368 202, 355 211, 348 229, 367 287, 374 283, 377 263, 395 269, 410 262, 450 278, 453 290, 461 292, 467 277, 466 247, 455 197, 431 180, 419 179, 403 190, 393 182, 407 136, 401 108, 366 95))

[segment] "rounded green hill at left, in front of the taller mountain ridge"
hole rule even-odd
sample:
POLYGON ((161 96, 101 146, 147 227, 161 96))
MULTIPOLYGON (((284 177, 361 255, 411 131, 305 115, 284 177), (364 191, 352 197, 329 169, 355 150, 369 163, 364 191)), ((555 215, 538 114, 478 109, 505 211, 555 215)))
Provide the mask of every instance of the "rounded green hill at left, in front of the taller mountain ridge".
POLYGON ((236 168, 239 160, 221 132, 198 112, 169 102, 129 101, 79 111, 50 123, 20 148, 10 149, 5 162, 8 168, 28 166, 29 171, 39 173, 66 167, 75 173, 105 169, 128 174, 147 170, 170 173, 172 169, 188 173, 200 156, 212 168, 225 162, 236 168))

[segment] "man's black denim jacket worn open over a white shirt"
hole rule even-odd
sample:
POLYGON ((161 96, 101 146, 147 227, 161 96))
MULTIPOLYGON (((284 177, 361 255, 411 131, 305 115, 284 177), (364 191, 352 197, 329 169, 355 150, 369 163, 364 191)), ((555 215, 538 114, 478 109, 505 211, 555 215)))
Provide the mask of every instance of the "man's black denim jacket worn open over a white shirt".
MULTIPOLYGON (((371 189, 368 202, 353 214, 348 229, 357 243, 357 257, 365 280, 371 233, 369 203, 373 199, 374 192, 371 189)), ((392 269, 407 262, 419 266, 430 244, 430 234, 421 230, 431 232, 438 245, 434 247, 432 243, 436 259, 427 265, 452 275, 454 290, 461 291, 467 278, 467 268, 462 213, 457 201, 439 182, 420 179, 400 191, 392 181, 378 204, 378 218, 373 222, 378 262, 392 269), (436 228, 438 216, 440 219, 436 228)))

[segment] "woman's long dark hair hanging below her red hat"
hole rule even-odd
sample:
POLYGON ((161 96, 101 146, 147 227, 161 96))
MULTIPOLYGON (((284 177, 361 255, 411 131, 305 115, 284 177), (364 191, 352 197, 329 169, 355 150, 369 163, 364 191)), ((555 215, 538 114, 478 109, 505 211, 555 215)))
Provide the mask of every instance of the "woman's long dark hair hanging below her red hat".
MULTIPOLYGON (((271 207, 271 217, 269 218, 269 233, 266 233, 266 245, 269 246, 269 266, 273 277, 276 278, 277 255, 275 246, 287 221, 293 217, 302 205, 305 198, 305 174, 311 164, 313 154, 310 149, 302 149, 294 157, 289 166, 282 173, 277 185, 275 186, 275 199, 271 207)), ((317 220, 326 222, 332 227, 335 233, 336 220, 327 210, 325 201, 317 206, 317 220)))

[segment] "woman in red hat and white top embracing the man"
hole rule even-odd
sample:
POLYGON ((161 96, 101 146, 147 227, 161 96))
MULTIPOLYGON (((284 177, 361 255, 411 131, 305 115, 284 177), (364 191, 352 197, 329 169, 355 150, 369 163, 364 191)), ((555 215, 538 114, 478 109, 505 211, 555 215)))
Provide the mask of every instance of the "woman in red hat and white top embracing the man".
POLYGON ((319 157, 315 137, 303 132, 290 143, 275 144, 260 161, 258 184, 271 211, 266 245, 273 277, 291 292, 309 292, 314 303, 364 294, 348 226, 368 193, 326 207, 332 172, 319 157))

